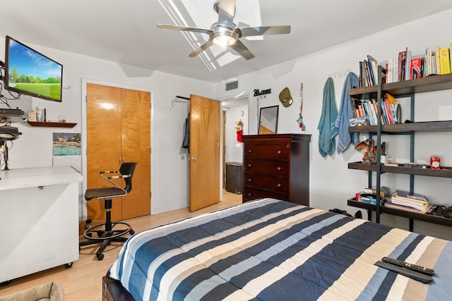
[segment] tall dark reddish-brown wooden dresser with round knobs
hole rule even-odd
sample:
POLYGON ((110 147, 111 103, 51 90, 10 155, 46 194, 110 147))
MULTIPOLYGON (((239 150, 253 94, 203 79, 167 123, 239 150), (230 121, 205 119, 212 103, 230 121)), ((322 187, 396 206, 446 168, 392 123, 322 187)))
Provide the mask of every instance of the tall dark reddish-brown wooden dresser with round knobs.
POLYGON ((311 135, 244 135, 243 202, 273 197, 309 206, 311 135))

